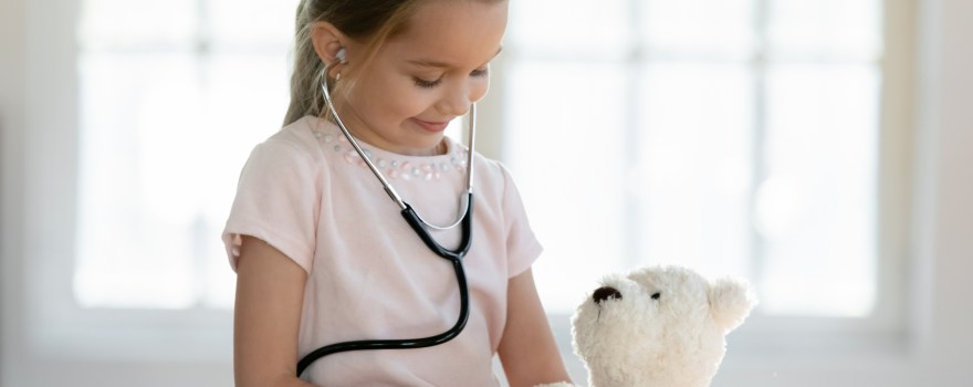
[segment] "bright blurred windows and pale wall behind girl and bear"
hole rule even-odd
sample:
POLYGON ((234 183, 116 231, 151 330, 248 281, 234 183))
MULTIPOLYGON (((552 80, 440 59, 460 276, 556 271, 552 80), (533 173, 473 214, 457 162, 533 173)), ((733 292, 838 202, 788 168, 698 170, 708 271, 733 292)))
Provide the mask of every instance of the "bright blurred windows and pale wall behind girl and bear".
MULTIPOLYGON (((0 3, 0 385, 231 384, 218 233, 293 2, 0 3)), ((679 263, 763 301, 714 386, 973 384, 969 2, 512 7, 478 140, 565 351, 598 275, 679 263)))

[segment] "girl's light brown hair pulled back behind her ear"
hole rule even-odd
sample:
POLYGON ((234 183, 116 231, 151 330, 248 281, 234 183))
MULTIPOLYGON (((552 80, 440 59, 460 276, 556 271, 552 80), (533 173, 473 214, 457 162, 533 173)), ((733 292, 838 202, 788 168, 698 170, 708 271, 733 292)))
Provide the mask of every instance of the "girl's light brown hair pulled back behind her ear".
POLYGON ((326 21, 348 38, 365 43, 367 62, 383 42, 406 27, 422 1, 428 0, 302 0, 295 25, 291 105, 284 126, 305 115, 325 116, 321 81, 327 75, 311 41, 314 23, 326 21))

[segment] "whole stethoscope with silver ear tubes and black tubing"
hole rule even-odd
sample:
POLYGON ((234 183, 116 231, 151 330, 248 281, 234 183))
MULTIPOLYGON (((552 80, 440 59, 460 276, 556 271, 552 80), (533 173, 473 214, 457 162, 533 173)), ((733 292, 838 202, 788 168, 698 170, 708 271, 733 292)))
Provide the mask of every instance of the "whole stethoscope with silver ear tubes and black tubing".
MULTIPOLYGON (((344 49, 338 52, 338 62, 344 62, 344 49)), ((469 130, 470 138, 468 145, 468 155, 467 155, 467 191, 465 191, 465 201, 463 201, 465 209, 459 211, 462 213, 456 222, 446 227, 437 227, 430 224, 425 221, 416 210, 412 209, 409 203, 402 200, 401 196, 391 187, 385 176, 378 170, 375 164, 372 163, 372 159, 368 158, 365 150, 358 145, 358 142, 352 136, 348 128, 342 122, 342 118, 338 116, 337 111, 335 111, 334 104, 332 103, 331 92, 328 91, 327 84, 327 74, 331 70, 331 66, 334 64, 326 64, 324 66, 324 75, 321 82, 321 92, 324 95, 325 105, 327 105, 328 113, 334 117, 335 123, 338 128, 342 130, 342 134, 348 139, 348 143, 352 144, 352 147, 355 148, 355 151, 358 153, 358 156, 365 161, 365 165, 368 166, 368 169, 372 170, 372 174, 378 178, 378 181, 381 182, 381 186, 385 188, 385 192, 388 194, 389 198, 396 202, 401 209, 402 218, 406 218, 406 222, 416 231, 416 234, 419 236, 419 239, 426 243, 429 250, 432 250, 437 255, 449 260, 452 263, 453 270, 456 271, 457 284, 460 289, 460 315, 457 318, 456 324, 447 330, 443 333, 438 335, 428 336, 428 337, 419 337, 419 338, 404 338, 404 339, 362 339, 362 341, 352 341, 352 342, 342 342, 329 344, 317 349, 314 349, 310 354, 305 355, 297 362, 297 376, 304 373, 312 363, 315 360, 339 352, 348 352, 348 351, 364 351, 364 349, 411 349, 411 348, 425 348, 431 347, 435 345, 439 345, 450 339, 454 338, 462 332, 463 327, 467 325, 467 321, 470 317, 470 294, 469 289, 467 286, 467 275, 463 271, 463 257, 467 254, 467 251, 470 250, 470 242, 472 241, 472 222, 473 222, 473 139, 477 129, 477 105, 473 104, 470 106, 469 114, 469 130), (462 238, 460 239, 460 245, 456 250, 450 250, 443 248, 436 239, 429 234, 428 229, 436 230, 448 230, 452 229, 457 226, 462 227, 462 238)))

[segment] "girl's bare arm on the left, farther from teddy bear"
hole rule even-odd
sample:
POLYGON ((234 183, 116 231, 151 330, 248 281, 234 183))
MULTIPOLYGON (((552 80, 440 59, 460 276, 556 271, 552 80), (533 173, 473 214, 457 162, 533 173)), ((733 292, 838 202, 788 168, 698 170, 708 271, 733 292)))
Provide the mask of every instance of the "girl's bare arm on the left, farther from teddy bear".
POLYGON ((242 239, 233 312, 237 387, 310 387, 294 376, 306 273, 262 240, 242 239))

